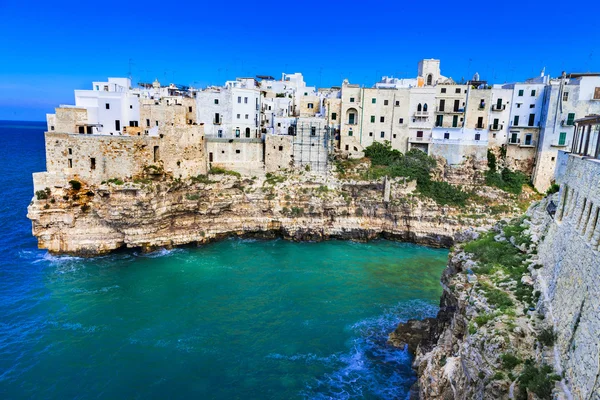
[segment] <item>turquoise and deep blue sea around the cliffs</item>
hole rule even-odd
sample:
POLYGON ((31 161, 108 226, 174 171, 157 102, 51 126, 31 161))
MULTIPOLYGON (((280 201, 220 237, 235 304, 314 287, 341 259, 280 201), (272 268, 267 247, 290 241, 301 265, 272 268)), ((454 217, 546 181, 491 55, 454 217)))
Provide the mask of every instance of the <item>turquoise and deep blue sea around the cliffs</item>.
POLYGON ((434 316, 448 251, 230 239, 96 259, 37 249, 45 124, 0 121, 0 398, 398 399, 386 344, 434 316))

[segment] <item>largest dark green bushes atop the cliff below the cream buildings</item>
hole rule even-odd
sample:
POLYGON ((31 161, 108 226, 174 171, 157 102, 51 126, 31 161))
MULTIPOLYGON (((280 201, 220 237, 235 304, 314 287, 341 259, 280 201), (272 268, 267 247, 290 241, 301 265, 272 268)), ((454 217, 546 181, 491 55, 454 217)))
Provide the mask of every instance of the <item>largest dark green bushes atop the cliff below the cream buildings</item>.
POLYGON ((402 176, 417 181, 419 192, 442 205, 464 206, 469 193, 447 182, 431 179, 431 170, 436 161, 420 150, 410 150, 406 154, 392 150, 390 142, 375 142, 365 149, 365 156, 371 159, 367 179, 402 176))

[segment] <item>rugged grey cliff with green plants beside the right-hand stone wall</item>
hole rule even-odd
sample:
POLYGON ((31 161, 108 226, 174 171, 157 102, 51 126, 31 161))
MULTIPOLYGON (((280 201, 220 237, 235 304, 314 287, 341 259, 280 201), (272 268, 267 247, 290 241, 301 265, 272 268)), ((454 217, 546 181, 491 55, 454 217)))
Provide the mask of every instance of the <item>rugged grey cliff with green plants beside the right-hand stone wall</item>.
POLYGON ((569 398, 534 286, 544 204, 477 242, 457 244, 437 318, 408 321, 390 334, 391 344, 415 355, 413 398, 569 398))

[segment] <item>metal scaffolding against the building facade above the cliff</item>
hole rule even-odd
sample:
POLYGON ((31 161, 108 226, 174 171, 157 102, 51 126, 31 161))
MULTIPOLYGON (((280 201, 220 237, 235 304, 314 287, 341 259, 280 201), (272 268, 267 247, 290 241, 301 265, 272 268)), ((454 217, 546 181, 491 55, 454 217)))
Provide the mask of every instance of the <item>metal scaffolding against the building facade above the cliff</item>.
POLYGON ((296 119, 291 128, 294 167, 327 175, 333 151, 333 128, 324 122, 301 119, 296 119))

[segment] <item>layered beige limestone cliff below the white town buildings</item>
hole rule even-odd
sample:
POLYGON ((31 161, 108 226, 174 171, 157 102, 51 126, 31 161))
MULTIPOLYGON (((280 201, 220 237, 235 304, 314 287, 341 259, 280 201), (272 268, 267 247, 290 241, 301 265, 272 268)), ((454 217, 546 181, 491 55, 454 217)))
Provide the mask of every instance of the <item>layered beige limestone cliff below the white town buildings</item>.
POLYGON ((494 220, 469 218, 478 206, 439 206, 414 193, 412 182, 390 182, 387 191, 385 186, 308 174, 114 180, 78 190, 49 188, 41 199, 34 197, 28 217, 40 248, 77 255, 204 243, 228 235, 293 240, 383 236, 449 247, 466 227, 489 226, 494 220))

